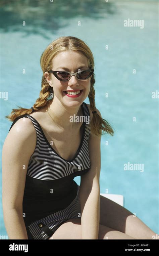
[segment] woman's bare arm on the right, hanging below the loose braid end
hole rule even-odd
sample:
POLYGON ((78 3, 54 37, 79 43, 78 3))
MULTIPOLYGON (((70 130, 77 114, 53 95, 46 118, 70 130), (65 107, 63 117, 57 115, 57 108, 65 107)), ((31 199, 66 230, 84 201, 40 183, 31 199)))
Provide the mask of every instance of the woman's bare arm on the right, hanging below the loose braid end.
MULTIPOLYGON (((97 113, 101 116, 100 112, 97 113)), ((91 115, 90 111, 90 115, 91 115)), ((89 138, 90 170, 81 176, 80 201, 82 239, 98 239, 100 220, 100 169, 101 136, 91 134, 89 138)))

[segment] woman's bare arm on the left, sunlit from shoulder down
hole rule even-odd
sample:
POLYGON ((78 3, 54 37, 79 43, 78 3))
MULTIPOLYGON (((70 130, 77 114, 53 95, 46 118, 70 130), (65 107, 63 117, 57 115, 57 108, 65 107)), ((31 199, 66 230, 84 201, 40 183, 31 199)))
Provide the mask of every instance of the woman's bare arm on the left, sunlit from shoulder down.
POLYGON ((22 216, 25 179, 36 147, 32 121, 21 118, 10 129, 2 149, 2 204, 9 239, 28 239, 22 216))

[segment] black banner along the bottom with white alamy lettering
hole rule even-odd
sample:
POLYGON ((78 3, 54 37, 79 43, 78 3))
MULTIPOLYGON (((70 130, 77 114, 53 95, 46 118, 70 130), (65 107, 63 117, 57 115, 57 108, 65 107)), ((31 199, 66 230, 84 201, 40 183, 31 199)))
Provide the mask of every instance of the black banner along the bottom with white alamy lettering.
POLYGON ((158 240, 1 240, 0 255, 32 255, 73 251, 105 251, 158 255, 158 240))

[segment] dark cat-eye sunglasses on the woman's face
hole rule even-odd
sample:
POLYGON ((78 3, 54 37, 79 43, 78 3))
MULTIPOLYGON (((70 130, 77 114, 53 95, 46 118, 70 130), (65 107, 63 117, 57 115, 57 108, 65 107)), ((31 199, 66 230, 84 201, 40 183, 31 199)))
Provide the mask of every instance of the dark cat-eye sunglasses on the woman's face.
POLYGON ((94 69, 77 71, 75 73, 65 72, 65 71, 53 71, 49 70, 60 81, 68 81, 72 76, 75 76, 78 80, 88 79, 94 72, 94 69))

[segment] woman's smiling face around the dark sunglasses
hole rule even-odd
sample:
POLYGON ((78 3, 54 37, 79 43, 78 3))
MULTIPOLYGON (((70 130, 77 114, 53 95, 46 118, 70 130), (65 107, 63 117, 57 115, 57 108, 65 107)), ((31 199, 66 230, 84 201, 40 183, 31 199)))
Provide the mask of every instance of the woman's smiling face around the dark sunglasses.
MULTIPOLYGON (((81 71, 89 69, 88 60, 82 53, 75 51, 63 51, 52 60, 53 71, 68 71, 75 73, 79 71, 79 69, 81 71)), ((45 78, 50 86, 53 87, 54 100, 59 100, 64 105, 74 107, 80 106, 87 98, 91 87, 91 77, 86 80, 78 80, 75 76, 72 76, 68 81, 60 81, 52 73, 50 79, 48 73, 45 72, 45 78), (67 95, 70 94, 66 94, 66 91, 68 90, 83 91, 78 97, 69 97, 67 95)))

